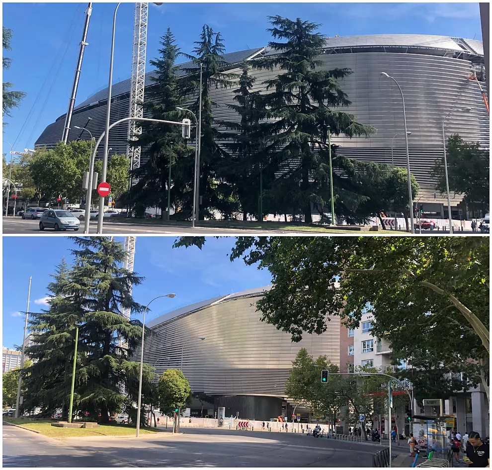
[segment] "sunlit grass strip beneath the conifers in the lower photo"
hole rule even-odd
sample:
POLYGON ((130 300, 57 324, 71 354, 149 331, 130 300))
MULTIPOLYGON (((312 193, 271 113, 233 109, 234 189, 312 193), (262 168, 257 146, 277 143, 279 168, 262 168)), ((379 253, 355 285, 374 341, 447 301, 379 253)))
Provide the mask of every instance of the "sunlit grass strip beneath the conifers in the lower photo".
MULTIPOLYGON (((131 436, 135 435, 135 428, 128 424, 102 424, 99 428, 58 428, 52 426, 55 421, 29 421, 28 419, 3 418, 4 422, 19 424, 28 429, 38 431, 43 436, 53 438, 78 437, 78 436, 131 436)), ((156 428, 140 428, 140 434, 152 434, 160 432, 156 428)))

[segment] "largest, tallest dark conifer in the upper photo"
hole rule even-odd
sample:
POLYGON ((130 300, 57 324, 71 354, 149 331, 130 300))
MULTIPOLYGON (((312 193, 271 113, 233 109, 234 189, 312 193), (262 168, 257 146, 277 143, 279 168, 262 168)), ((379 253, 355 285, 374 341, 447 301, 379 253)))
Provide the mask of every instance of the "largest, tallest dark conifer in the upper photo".
POLYGON ((320 209, 330 205, 328 127, 331 135, 343 132, 349 137, 368 136, 373 129, 357 122, 355 115, 333 109, 351 103, 338 80, 352 72, 346 68, 316 70, 323 65, 318 57, 326 40, 315 32, 320 25, 278 15, 269 19, 273 27, 268 31, 275 39, 286 41, 270 42, 277 54, 253 63, 259 69, 280 69, 276 78, 264 82, 269 91, 264 98, 272 121, 270 134, 281 174, 276 184, 292 188, 293 206, 310 223, 312 204, 320 209))

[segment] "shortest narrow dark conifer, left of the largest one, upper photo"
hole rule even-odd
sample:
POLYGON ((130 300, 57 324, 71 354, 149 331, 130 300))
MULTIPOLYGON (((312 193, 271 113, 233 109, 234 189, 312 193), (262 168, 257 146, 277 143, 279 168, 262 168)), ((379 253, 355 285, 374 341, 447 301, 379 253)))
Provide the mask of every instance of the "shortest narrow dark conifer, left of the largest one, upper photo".
POLYGON ((250 66, 246 61, 241 65, 241 70, 233 98, 237 104, 227 105, 239 114, 241 120, 219 121, 219 124, 229 130, 221 134, 221 138, 226 140, 225 148, 229 157, 225 159, 221 174, 234 186, 241 203, 243 220, 246 220, 247 214, 259 217, 260 178, 263 180, 263 199, 266 202, 268 182, 275 175, 273 166, 269 166, 267 130, 263 122, 267 111, 260 92, 251 91, 256 78, 249 75, 250 66))

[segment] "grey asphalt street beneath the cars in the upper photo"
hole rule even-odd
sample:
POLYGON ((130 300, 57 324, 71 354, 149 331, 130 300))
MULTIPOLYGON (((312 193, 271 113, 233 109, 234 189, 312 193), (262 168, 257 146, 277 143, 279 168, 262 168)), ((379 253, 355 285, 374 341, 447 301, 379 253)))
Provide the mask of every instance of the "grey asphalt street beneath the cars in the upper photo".
MULTIPOLYGON (((54 232, 53 229, 44 229, 43 231, 39 230, 39 220, 30 220, 25 219, 22 220, 20 217, 3 217, 2 219, 2 233, 9 234, 41 234, 41 235, 83 235, 83 223, 81 224, 81 228, 74 232, 74 230, 67 230, 66 232, 54 232)), ((97 221, 91 220, 89 225, 89 233, 97 233, 97 221)), ((241 229, 241 228, 208 228, 208 227, 195 227, 192 229, 191 227, 185 227, 182 225, 176 226, 160 226, 160 225, 150 225, 145 223, 118 223, 118 222, 108 222, 103 225, 103 233, 107 234, 173 234, 173 235, 203 235, 207 233, 227 233, 230 235, 242 234, 245 233, 255 233, 255 234, 264 234, 264 235, 272 235, 274 233, 289 233, 291 235, 296 235, 296 232, 285 231, 285 230, 263 230, 259 231, 256 229, 241 229)), ((303 233, 313 233, 316 232, 303 232, 303 233)))

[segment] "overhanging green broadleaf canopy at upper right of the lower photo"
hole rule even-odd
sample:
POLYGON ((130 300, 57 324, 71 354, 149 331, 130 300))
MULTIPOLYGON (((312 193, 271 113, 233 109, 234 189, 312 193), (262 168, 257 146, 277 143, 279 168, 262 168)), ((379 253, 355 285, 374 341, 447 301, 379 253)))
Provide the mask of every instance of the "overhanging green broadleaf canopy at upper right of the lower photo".
POLYGON ((331 315, 356 328, 369 306, 372 335, 389 341, 395 361, 442 363, 489 393, 488 237, 239 237, 230 257, 271 273, 257 308, 293 341, 325 332, 331 315))

